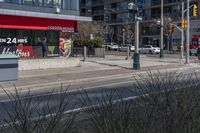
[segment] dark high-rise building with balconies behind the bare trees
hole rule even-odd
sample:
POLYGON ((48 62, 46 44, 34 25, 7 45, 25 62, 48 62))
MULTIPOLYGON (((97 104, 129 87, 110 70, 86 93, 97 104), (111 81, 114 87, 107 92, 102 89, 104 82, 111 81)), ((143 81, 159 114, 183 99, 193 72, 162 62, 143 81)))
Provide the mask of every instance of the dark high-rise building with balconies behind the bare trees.
MULTIPOLYGON (((164 20, 170 19, 177 25, 181 21, 181 1, 182 0, 164 0, 164 20)), ((128 10, 128 3, 131 0, 81 0, 80 13, 82 15, 92 16, 93 20, 102 21, 114 28, 113 40, 122 43, 122 34, 124 25, 132 23, 131 30, 134 31, 134 16, 131 16, 128 10)), ((160 2, 161 0, 135 0, 135 3, 142 8, 140 16, 143 20, 140 22, 140 45, 152 44, 159 46, 160 44, 160 26, 156 21, 160 20, 160 2)), ((194 1, 192 1, 194 2, 194 1)), ((191 2, 191 4, 192 4, 191 2)), ((198 7, 200 7, 200 0, 196 0, 198 7)), ((198 8, 198 15, 200 16, 200 8, 198 8)), ((192 8, 191 8, 192 16, 192 8)), ((200 17, 191 17, 193 20, 198 20, 200 17)), ((127 28, 125 28, 127 29, 127 28)), ((164 32, 167 33, 168 27, 164 27, 164 32)), ((175 29, 176 30, 176 29, 175 29)), ((177 31, 178 32, 178 31, 177 31)), ((199 34, 199 33, 198 33, 199 34)), ((126 43, 130 35, 126 36, 126 43)), ((134 37, 132 37, 134 38, 134 37)), ((164 36, 165 48, 167 47, 167 36, 164 36)), ((132 39, 132 42, 134 40, 132 39)), ((171 39, 170 45, 173 40, 171 39)), ((179 42, 178 42, 179 43, 179 42)))

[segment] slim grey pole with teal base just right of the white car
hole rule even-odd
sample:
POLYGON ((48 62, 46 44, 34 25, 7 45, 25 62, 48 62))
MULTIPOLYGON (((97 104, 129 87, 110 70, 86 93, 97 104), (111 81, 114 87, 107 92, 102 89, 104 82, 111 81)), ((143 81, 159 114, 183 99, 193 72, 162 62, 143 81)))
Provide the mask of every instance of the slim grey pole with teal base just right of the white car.
POLYGON ((160 58, 164 58, 164 51, 163 51, 163 0, 161 0, 161 19, 160 19, 160 58))

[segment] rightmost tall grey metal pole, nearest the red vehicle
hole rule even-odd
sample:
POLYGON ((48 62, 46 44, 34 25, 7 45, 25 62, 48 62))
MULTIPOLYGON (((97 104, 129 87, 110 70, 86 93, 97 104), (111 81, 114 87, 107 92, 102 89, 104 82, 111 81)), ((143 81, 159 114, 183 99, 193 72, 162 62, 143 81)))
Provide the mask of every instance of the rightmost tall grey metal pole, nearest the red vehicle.
POLYGON ((187 43, 186 43, 186 49, 187 49, 187 54, 186 54, 186 64, 190 63, 190 0, 187 0, 187 43))

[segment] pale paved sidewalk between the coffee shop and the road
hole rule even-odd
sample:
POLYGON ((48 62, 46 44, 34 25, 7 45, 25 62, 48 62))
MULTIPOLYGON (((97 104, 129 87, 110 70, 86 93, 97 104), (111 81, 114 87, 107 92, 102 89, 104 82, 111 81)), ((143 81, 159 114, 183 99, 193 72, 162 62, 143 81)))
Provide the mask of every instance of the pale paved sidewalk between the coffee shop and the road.
POLYGON ((124 56, 106 56, 103 58, 88 58, 81 62, 80 67, 40 69, 19 71, 18 81, 1 82, 4 89, 14 89, 15 84, 20 89, 47 88, 64 84, 79 84, 81 82, 92 82, 121 78, 136 72, 146 70, 199 68, 200 63, 184 64, 184 60, 176 58, 155 58, 141 56, 141 70, 133 70, 133 60, 125 60, 124 56))

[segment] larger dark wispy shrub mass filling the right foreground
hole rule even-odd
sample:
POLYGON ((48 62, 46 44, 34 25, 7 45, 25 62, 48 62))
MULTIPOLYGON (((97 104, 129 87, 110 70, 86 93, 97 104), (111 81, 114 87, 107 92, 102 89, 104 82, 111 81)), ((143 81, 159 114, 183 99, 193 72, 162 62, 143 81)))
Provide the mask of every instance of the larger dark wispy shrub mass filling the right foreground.
MULTIPOLYGON (((115 90, 95 97, 88 133, 198 133, 200 82, 196 72, 151 72, 134 77, 137 97, 115 90), (116 100, 117 99, 117 100, 116 100)), ((88 96, 87 102, 94 98, 88 96)))

